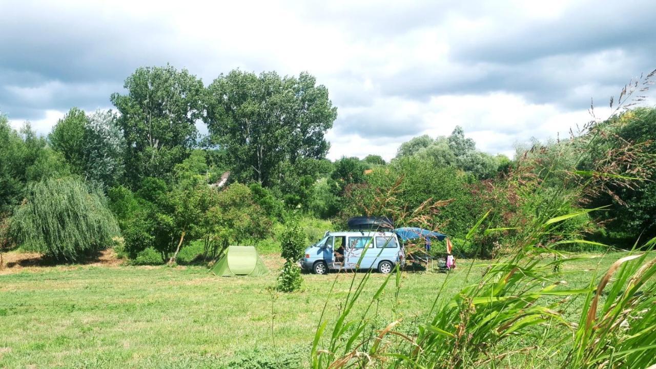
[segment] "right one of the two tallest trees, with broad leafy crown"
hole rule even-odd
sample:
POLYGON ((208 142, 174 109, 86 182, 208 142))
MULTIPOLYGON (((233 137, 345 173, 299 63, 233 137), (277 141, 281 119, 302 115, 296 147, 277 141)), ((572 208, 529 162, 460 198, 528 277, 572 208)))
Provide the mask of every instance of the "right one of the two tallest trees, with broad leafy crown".
POLYGON ((321 159, 329 148, 324 133, 333 126, 337 108, 310 74, 256 76, 233 70, 216 78, 208 95, 207 127, 226 150, 238 181, 274 186, 281 171, 300 177, 306 173, 298 173, 297 161, 321 159))

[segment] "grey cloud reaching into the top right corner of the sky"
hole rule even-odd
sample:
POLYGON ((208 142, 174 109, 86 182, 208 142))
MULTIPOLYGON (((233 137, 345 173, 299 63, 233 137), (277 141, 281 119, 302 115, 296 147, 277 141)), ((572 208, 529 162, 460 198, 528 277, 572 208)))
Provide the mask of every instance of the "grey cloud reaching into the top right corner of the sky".
POLYGON ((453 44, 453 56, 470 62, 522 64, 558 54, 615 48, 648 50, 654 45, 655 12, 653 1, 615 6, 583 3, 552 20, 509 22, 495 32, 459 37, 453 44))

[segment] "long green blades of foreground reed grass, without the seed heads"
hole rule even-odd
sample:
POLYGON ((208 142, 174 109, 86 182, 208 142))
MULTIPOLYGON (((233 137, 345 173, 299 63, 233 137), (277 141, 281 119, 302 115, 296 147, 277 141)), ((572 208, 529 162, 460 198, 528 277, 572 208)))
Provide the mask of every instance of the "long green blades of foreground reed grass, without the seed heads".
MULTIPOLYGON (((397 293, 401 288, 399 269, 371 297, 363 295, 370 272, 352 274, 337 321, 331 327, 323 318, 319 322, 312 368, 478 368, 508 363, 518 368, 647 368, 655 364, 656 258, 647 251, 630 251, 607 271, 593 274, 585 288, 570 288, 563 281, 567 272, 562 266, 589 256, 558 251, 559 242, 539 245, 535 240, 575 215, 548 219, 531 238, 533 242, 495 260, 482 276, 468 275, 468 270, 449 274, 430 314, 409 327, 403 327, 401 317, 386 326, 372 325, 380 318, 372 310, 386 286, 393 283, 397 293), (449 278, 456 275, 470 278, 471 284, 439 303, 449 278), (362 299, 368 299, 365 308, 356 311, 356 302, 362 299), (583 309, 577 320, 570 320, 565 312, 577 299, 583 300, 583 309)), ((644 246, 651 250, 655 243, 656 239, 644 246)))

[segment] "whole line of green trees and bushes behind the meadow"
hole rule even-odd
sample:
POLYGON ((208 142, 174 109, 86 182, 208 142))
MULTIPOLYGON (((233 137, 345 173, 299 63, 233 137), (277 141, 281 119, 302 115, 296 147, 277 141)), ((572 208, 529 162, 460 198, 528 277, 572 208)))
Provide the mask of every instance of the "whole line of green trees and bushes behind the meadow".
POLYGON ((390 212, 400 225, 417 225, 408 214, 432 201, 440 206, 430 207, 422 225, 449 234, 462 253, 491 255, 540 213, 540 196, 562 201, 563 214, 605 206, 564 222, 572 238, 623 244, 656 235, 654 108, 518 147, 512 160, 477 150, 456 127, 447 137, 404 142, 389 163, 376 155, 331 162, 325 132, 337 108, 310 74, 233 70, 205 87, 167 65, 138 68, 124 87, 110 97, 115 111, 72 108, 47 137, 29 123, 14 130, 0 115, 3 247, 75 260, 114 244, 130 259, 155 253, 174 263, 192 241, 211 258, 231 243, 276 238, 291 212, 335 227, 354 215, 390 212), (199 135, 200 124, 207 135, 199 135), (585 203, 574 203, 562 190, 574 188, 573 179, 545 176, 567 171, 578 173, 576 181, 617 180, 591 186, 597 189, 577 197, 585 203), (543 190, 527 191, 531 181, 543 190), (504 230, 465 242, 486 213, 487 227, 504 230))

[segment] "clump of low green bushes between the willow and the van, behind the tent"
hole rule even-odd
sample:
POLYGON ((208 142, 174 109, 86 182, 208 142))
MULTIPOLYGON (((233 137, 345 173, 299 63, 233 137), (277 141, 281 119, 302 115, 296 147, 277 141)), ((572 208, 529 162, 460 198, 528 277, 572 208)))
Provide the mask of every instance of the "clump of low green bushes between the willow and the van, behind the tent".
MULTIPOLYGON (((255 244, 271 234, 270 216, 255 202, 249 186, 235 183, 217 191, 197 174, 199 163, 203 161, 192 154, 176 165, 171 186, 161 179, 147 178, 136 194, 125 187, 110 189, 111 207, 123 230, 129 257, 135 258, 150 247, 163 258, 174 260, 180 250, 199 239, 205 257, 213 257, 228 244, 255 244)), ((262 201, 268 200, 275 199, 269 194, 262 201)))

